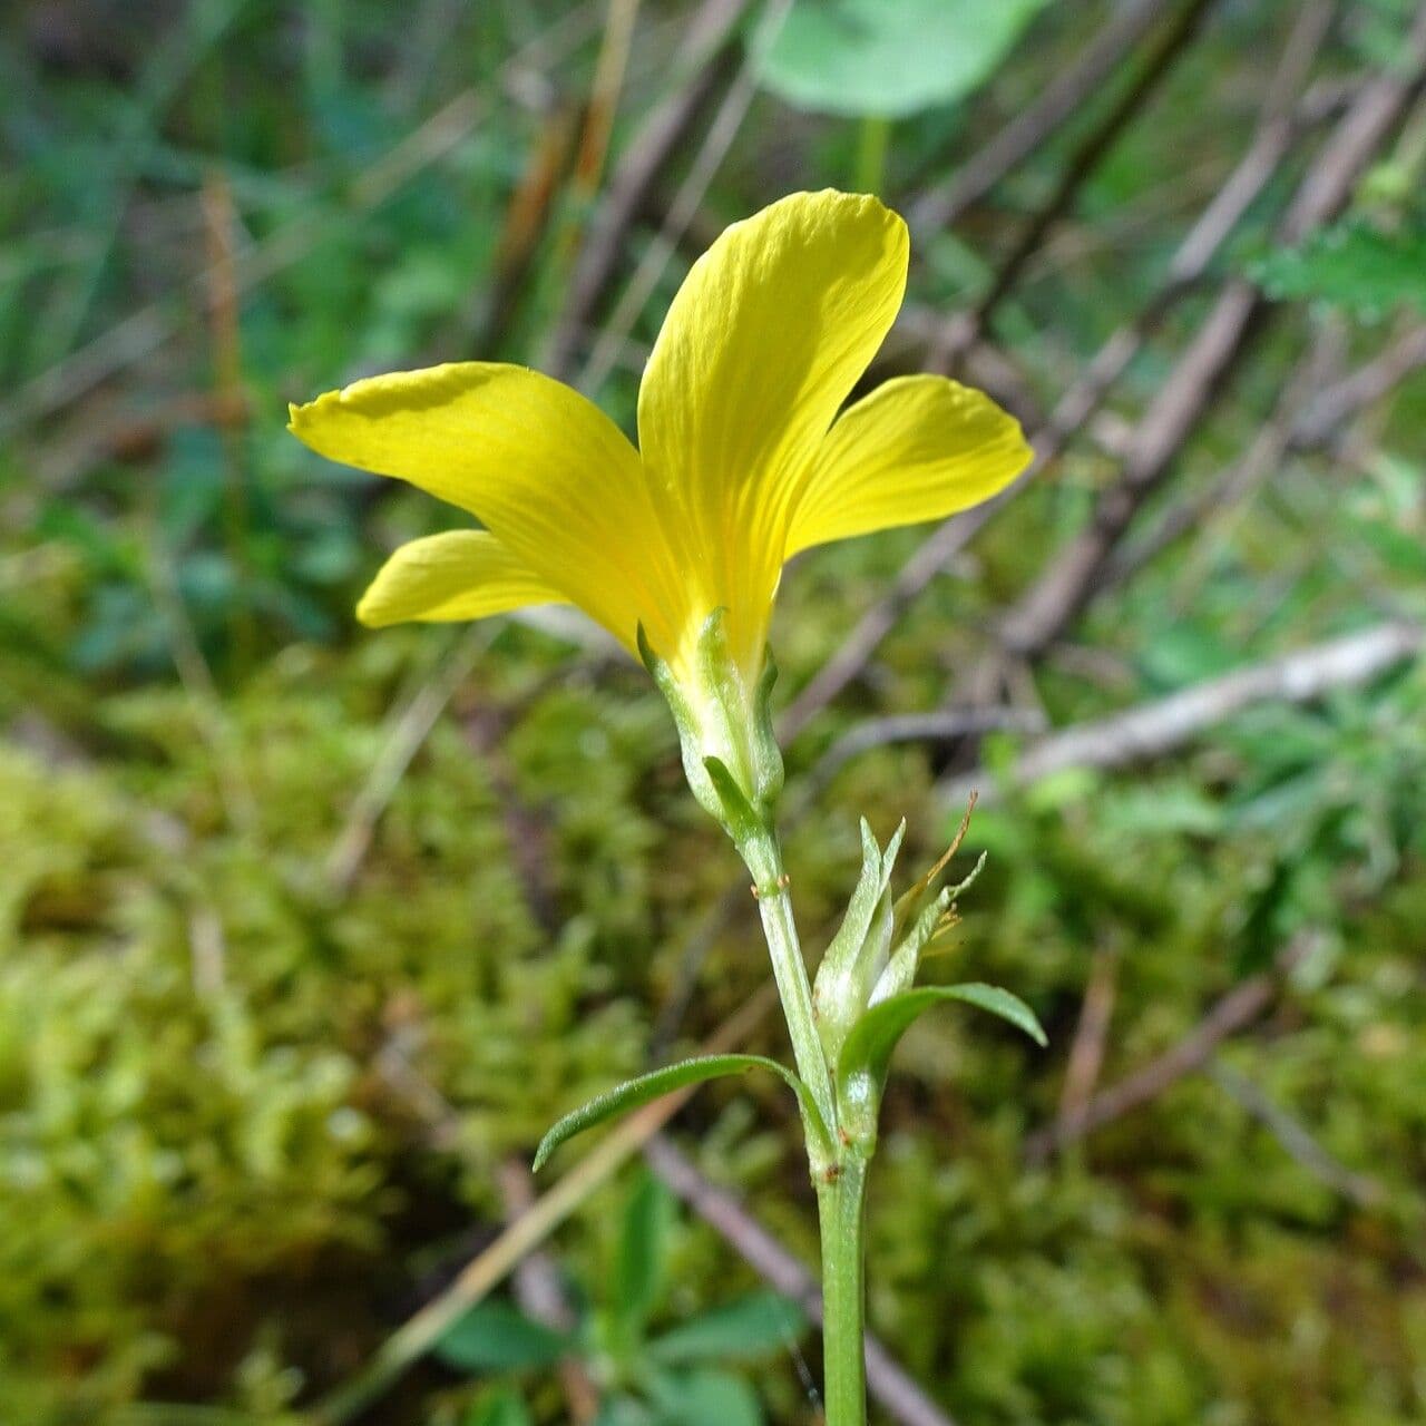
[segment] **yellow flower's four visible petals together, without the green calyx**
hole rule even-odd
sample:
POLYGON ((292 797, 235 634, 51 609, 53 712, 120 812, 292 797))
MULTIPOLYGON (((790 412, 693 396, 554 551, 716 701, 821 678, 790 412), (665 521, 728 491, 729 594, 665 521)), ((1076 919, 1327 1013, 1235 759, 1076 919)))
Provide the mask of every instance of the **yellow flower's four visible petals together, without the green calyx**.
POLYGON ((372 626, 570 603, 683 686, 724 609, 756 682, 786 560, 813 545, 940 519, 1030 459, 994 402, 903 376, 837 415, 896 318, 907 231, 876 198, 793 194, 693 265, 639 391, 639 449, 569 386, 458 362, 359 381, 292 408, 347 465, 409 481, 481 530, 412 540, 358 606, 372 626))

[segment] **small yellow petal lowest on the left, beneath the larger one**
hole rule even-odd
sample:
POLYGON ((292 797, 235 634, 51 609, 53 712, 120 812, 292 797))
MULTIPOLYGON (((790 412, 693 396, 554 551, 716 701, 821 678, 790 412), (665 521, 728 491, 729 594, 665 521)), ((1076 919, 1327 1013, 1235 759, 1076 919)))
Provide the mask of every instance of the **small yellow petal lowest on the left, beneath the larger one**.
POLYGON ((356 606, 371 629, 408 619, 483 619, 565 596, 522 565, 488 530, 449 530, 402 545, 356 606))

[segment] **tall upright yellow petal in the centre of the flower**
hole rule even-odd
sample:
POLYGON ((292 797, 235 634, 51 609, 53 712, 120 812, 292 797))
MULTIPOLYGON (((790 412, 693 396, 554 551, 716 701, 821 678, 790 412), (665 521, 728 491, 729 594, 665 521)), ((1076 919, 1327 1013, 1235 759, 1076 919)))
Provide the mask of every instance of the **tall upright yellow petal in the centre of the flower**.
POLYGON ((906 224, 876 198, 793 194, 693 264, 639 392, 639 441, 679 560, 761 657, 791 512, 906 288, 906 224))

